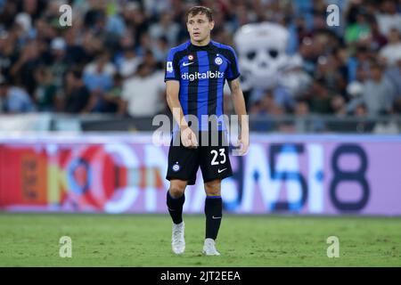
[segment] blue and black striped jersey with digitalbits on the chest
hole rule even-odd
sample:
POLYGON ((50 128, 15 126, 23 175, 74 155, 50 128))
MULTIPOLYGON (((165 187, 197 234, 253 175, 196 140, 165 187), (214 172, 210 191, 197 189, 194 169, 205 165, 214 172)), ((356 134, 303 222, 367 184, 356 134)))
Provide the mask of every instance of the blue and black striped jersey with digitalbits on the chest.
MULTIPOLYGON (((210 41, 209 45, 192 45, 191 41, 172 48, 168 53, 165 81, 180 82, 179 100, 184 115, 198 118, 200 130, 208 128, 205 116, 224 114, 225 80, 240 76, 237 56, 229 45, 210 41)), ((219 129, 224 127, 224 122, 219 129), (223 125, 223 126, 222 126, 223 125)))

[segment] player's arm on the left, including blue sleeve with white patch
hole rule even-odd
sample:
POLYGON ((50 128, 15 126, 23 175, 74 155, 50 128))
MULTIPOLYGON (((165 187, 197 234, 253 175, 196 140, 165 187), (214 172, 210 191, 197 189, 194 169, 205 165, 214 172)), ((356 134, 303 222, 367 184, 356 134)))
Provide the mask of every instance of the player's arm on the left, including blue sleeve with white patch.
POLYGON ((174 55, 174 50, 170 50, 164 79, 166 81, 168 108, 171 110, 173 118, 180 128, 181 142, 183 142, 184 147, 196 148, 198 146, 196 135, 192 132, 192 129, 188 126, 188 122, 184 118, 183 108, 178 97, 180 92, 179 64, 174 55))

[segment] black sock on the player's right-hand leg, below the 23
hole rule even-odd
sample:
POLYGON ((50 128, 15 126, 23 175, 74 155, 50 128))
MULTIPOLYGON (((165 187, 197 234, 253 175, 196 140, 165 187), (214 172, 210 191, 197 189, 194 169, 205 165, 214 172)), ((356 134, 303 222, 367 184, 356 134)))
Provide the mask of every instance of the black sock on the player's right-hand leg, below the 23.
POLYGON ((206 239, 216 240, 223 216, 221 196, 207 196, 205 200, 206 239))

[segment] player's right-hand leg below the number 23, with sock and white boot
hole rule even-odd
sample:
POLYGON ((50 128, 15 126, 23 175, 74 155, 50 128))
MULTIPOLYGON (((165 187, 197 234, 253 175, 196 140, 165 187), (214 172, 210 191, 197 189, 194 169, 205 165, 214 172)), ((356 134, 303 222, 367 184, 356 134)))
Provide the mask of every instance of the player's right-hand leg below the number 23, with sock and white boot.
POLYGON ((223 200, 221 199, 221 180, 215 179, 205 183, 205 216, 206 234, 203 253, 207 256, 219 256, 216 239, 223 217, 223 200))

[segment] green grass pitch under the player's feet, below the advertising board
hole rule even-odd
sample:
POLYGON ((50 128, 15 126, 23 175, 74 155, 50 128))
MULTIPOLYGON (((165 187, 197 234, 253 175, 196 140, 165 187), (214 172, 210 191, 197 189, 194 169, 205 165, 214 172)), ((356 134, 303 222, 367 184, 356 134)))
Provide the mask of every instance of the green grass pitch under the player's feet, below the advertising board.
POLYGON ((401 266, 401 218, 225 215, 222 256, 202 256, 204 216, 184 215, 186 250, 168 215, 0 214, 0 266, 401 266), (61 258, 61 236, 72 257, 61 258), (329 236, 340 256, 327 257, 329 236))

